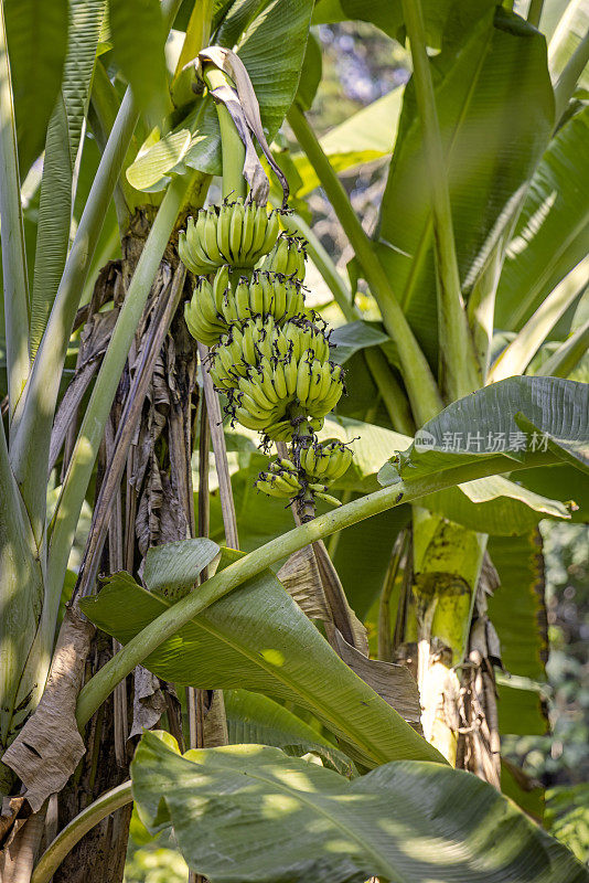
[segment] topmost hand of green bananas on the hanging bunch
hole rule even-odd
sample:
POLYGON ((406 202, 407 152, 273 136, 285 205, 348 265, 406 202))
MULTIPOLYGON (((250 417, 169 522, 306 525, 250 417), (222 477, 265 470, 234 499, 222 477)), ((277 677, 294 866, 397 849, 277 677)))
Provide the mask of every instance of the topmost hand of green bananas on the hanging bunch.
POLYGON ((189 217, 179 235, 180 258, 196 276, 214 273, 223 264, 255 267, 268 254, 279 233, 278 213, 243 199, 201 209, 189 217))

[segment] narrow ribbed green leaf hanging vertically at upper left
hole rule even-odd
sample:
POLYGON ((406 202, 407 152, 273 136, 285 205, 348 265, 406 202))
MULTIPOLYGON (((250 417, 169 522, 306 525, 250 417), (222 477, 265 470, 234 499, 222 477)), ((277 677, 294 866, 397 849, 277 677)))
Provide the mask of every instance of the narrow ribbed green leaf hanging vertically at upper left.
POLYGON ((72 0, 62 88, 47 128, 31 301, 34 355, 62 278, 72 221, 72 187, 106 0, 72 0))

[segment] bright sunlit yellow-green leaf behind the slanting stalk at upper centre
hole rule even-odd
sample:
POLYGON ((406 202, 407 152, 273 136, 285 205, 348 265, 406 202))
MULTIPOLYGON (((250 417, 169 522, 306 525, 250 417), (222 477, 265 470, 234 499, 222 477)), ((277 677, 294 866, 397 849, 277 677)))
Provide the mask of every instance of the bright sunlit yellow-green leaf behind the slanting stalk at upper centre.
MULTIPOLYGON (((396 88, 363 107, 320 139, 321 148, 336 172, 352 171, 390 153, 401 102, 403 89, 396 88)), ((304 153, 293 157, 293 161, 302 181, 297 195, 304 196, 319 185, 319 178, 304 153)))

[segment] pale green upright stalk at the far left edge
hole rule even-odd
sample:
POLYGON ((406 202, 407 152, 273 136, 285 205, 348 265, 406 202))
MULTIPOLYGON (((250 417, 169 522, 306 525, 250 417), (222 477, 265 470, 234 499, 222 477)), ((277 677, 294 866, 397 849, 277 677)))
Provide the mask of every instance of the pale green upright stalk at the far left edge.
POLYGON ((3 0, 0 0, 0 221, 2 225, 9 421, 11 421, 30 370, 30 305, 17 125, 3 0))

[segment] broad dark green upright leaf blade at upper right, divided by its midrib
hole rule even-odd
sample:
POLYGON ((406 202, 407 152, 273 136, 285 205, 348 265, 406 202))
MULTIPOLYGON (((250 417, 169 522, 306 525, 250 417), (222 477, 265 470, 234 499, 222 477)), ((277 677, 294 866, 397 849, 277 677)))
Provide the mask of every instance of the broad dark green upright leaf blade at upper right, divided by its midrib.
MULTIPOLYGON (((431 73, 448 161, 462 287, 470 290, 548 141, 554 99, 542 34, 518 17, 457 3, 431 73)), ((410 82, 382 204, 379 255, 411 328, 437 363, 427 158, 410 82)))

